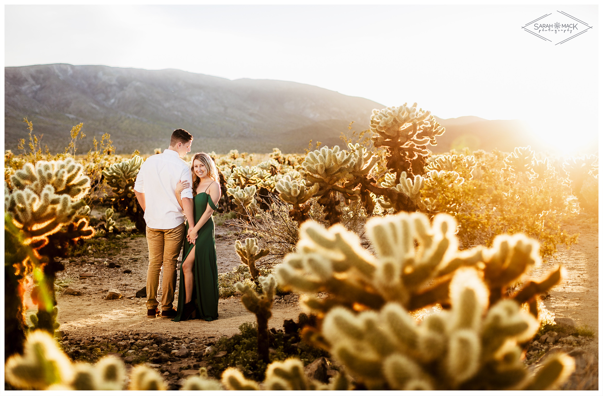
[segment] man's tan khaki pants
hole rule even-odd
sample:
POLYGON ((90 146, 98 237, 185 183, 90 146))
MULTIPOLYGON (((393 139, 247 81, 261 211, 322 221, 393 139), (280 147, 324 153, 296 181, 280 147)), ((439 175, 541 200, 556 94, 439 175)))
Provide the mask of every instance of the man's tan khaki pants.
POLYGON ((147 227, 149 266, 147 269, 147 309, 157 308, 157 288, 159 273, 163 267, 162 310, 172 309, 176 288, 178 256, 185 238, 185 224, 171 230, 157 230, 147 227))

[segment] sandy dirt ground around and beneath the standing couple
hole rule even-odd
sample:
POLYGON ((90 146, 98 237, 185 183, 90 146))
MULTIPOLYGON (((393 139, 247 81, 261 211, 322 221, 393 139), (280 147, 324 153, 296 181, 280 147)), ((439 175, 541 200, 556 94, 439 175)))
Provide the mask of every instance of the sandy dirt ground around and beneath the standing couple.
MULTIPOLYGON (((227 228, 216 227, 216 251, 218 252, 218 272, 230 271, 239 265, 239 256, 235 251, 233 240, 224 237, 227 228)), ((127 298, 143 288, 147 280, 148 248, 147 239, 137 237, 128 240, 128 248, 116 257, 91 259, 81 257, 77 262, 66 265, 65 271, 59 272, 57 283, 67 284, 66 288, 81 291, 83 295, 64 295, 57 292, 59 309, 58 321, 61 330, 71 336, 104 336, 116 332, 162 333, 174 336, 232 336, 239 332, 239 325, 254 322, 255 316, 248 312, 239 298, 230 297, 219 300, 216 321, 200 320, 172 322, 163 318, 147 318, 146 298, 127 298), (115 262, 120 268, 106 268, 104 261, 115 262), (124 274, 124 270, 130 274, 124 274), (81 279, 83 272, 92 272, 88 279, 81 279), (104 300, 107 289, 118 289, 124 298, 104 300)), ((178 282, 180 280, 178 279, 178 282)), ((174 306, 177 305, 178 286, 174 306)), ((27 303, 27 301, 26 301, 27 303)), ((36 307, 28 304, 27 317, 36 312, 36 307)), ((273 316, 269 326, 281 328, 285 319, 297 318, 301 312, 299 303, 274 304, 273 316)))

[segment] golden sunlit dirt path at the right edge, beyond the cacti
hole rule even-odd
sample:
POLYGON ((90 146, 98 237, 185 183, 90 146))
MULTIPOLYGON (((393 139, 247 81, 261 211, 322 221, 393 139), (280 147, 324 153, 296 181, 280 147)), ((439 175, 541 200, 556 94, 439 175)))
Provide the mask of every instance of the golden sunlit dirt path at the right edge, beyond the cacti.
POLYGON ((572 318, 578 325, 588 325, 598 338, 599 332, 599 234, 595 224, 572 227, 570 233, 580 233, 578 244, 569 250, 559 247, 554 259, 549 260, 533 275, 540 278, 557 265, 566 268, 566 277, 549 293, 547 309, 555 318, 572 318))

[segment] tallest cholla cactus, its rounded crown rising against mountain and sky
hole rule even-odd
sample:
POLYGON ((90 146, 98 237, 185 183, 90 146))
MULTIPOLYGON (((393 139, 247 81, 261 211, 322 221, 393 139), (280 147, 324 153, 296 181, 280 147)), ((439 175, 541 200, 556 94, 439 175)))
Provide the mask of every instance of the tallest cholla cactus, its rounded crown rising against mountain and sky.
MULTIPOLYGON (((370 131, 375 147, 386 147, 389 151, 387 168, 400 175, 406 171, 411 176, 422 174, 429 150, 435 146, 435 138, 444 133, 444 128, 435 121, 431 112, 417 110, 417 104, 407 107, 388 107, 373 110, 370 131)), ((399 178, 396 184, 400 183, 399 178)))

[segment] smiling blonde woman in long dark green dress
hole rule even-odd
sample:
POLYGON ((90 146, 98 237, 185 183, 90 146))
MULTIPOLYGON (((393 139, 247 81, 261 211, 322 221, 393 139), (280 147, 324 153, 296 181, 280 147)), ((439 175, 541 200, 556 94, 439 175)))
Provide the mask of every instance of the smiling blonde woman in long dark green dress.
MULTIPOLYGON (((186 238, 180 268, 178 309, 174 322, 188 319, 218 319, 218 262, 212 213, 220 199, 218 168, 205 152, 197 152, 192 160, 192 193, 194 227, 186 223, 186 238)), ((188 182, 180 181, 176 197, 182 206, 180 192, 188 182)))

